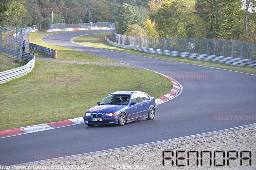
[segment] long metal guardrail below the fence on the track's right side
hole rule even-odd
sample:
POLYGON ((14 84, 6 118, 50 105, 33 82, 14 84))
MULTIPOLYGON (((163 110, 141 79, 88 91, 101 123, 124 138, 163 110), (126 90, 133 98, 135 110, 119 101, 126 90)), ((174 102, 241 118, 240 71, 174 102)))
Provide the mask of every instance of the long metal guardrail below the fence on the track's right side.
POLYGON ((157 54, 165 54, 165 55, 175 55, 187 58, 194 58, 199 60, 209 60, 209 61, 219 61, 223 63, 233 64, 237 66, 250 66, 256 67, 256 60, 249 60, 249 59, 240 59, 240 58, 231 58, 231 57, 222 57, 216 55, 208 55, 208 54, 198 54, 198 53, 186 53, 186 52, 176 52, 176 51, 169 51, 169 50, 160 50, 154 48, 146 48, 140 46, 130 46, 125 44, 120 44, 117 42, 110 41, 107 36, 105 37, 107 42, 113 46, 118 46, 127 49, 139 50, 147 53, 157 53, 157 54))

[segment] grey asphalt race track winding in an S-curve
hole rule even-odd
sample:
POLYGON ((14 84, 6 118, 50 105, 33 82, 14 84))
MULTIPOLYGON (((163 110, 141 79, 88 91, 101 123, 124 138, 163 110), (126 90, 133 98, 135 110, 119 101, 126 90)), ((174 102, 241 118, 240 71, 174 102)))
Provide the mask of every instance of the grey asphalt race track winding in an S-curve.
POLYGON ((42 40, 150 69, 167 76, 175 75, 176 80, 183 86, 182 94, 171 101, 159 104, 156 117, 152 121, 134 121, 124 126, 88 127, 85 124, 76 124, 0 138, 0 165, 37 161, 39 155, 47 159, 54 154, 74 155, 95 152, 255 123, 255 121, 212 120, 213 115, 216 114, 255 114, 255 75, 120 53, 70 42, 73 37, 98 32, 108 31, 63 32, 46 36, 42 40), (210 78, 185 80, 182 79, 184 75, 190 78, 208 75, 210 78))

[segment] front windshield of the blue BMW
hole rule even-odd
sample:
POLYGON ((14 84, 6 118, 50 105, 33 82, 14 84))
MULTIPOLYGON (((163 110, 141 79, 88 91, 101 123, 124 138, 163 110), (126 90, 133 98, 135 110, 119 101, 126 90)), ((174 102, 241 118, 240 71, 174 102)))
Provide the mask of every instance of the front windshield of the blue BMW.
POLYGON ((130 95, 108 95, 100 104, 124 104, 127 105, 130 99, 130 95))

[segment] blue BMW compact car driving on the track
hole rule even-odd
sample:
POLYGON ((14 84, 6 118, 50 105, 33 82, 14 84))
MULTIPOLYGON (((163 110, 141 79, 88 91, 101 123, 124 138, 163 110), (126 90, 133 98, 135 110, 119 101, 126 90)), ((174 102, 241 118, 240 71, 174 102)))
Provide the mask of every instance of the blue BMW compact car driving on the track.
POLYGON ((95 124, 123 126, 137 119, 153 120, 155 117, 155 98, 141 91, 116 91, 97 104, 84 114, 84 123, 88 126, 95 124))

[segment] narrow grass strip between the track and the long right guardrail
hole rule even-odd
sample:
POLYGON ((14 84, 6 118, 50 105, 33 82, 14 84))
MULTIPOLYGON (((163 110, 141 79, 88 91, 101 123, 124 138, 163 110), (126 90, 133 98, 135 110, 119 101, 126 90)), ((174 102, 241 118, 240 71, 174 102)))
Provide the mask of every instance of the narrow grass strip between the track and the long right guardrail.
POLYGON ((222 69, 239 71, 239 72, 244 72, 244 73, 256 74, 256 68, 253 68, 253 67, 234 66, 231 64, 225 64, 225 63, 216 62, 216 61, 204 61, 204 60, 196 60, 196 59, 190 59, 190 58, 178 57, 178 56, 145 53, 145 52, 141 52, 141 51, 137 51, 137 50, 124 49, 121 47, 112 46, 109 43, 107 43, 107 41, 105 40, 104 37, 106 35, 110 35, 110 32, 79 36, 74 39, 74 42, 76 42, 78 44, 83 44, 86 46, 104 48, 104 49, 120 51, 120 52, 124 52, 124 53, 131 53, 131 54, 143 55, 143 56, 147 56, 147 57, 180 61, 180 62, 184 62, 184 63, 196 64, 196 65, 201 65, 201 66, 222 68, 222 69))

